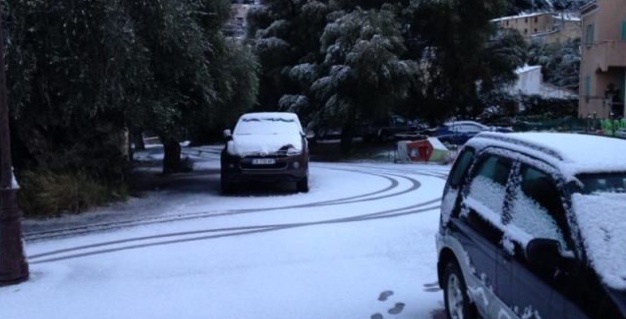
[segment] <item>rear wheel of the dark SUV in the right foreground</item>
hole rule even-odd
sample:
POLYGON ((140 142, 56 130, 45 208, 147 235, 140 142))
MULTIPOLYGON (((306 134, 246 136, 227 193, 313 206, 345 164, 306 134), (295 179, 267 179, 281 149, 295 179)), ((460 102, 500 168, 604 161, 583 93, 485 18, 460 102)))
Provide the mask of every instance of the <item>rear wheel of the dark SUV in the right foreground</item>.
POLYGON ((476 319, 476 309, 467 296, 467 286, 459 265, 451 261, 444 273, 443 299, 449 319, 476 319))

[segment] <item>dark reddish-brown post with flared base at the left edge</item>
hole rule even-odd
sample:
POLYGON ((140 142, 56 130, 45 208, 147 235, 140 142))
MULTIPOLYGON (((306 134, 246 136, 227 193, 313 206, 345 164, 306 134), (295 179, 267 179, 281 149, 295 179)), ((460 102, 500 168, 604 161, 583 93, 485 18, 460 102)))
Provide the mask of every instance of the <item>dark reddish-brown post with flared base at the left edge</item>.
POLYGON ((29 273, 24 257, 21 212, 17 204, 18 185, 13 182, 2 28, 0 4, 0 286, 6 286, 27 280, 29 273))

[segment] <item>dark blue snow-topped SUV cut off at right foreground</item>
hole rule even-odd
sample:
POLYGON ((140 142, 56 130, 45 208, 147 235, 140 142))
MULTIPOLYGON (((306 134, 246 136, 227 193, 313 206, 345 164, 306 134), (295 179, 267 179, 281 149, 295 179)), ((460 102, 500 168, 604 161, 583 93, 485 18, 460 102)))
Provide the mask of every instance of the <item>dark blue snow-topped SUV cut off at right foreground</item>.
POLYGON ((483 132, 437 233, 448 318, 626 318, 626 141, 483 132))

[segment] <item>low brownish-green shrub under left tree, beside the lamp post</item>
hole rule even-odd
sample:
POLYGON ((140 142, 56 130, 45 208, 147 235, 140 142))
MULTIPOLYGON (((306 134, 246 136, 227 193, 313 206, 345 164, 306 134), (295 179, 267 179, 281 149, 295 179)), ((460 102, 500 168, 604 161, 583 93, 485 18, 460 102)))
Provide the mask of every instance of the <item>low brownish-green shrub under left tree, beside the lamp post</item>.
POLYGON ((40 169, 18 176, 18 201, 24 215, 53 217, 79 213, 127 196, 124 186, 109 186, 82 171, 55 173, 40 169))

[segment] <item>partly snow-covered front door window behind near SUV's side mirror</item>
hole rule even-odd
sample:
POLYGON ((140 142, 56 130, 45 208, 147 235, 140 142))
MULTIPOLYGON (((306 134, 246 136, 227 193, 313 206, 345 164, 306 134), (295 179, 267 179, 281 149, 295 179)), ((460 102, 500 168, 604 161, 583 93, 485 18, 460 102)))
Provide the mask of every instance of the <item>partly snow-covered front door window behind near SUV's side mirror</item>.
POLYGON ((526 242, 532 238, 555 239, 566 248, 562 228, 565 227, 563 200, 550 174, 522 164, 520 183, 511 202, 510 223, 521 231, 512 239, 526 242))

